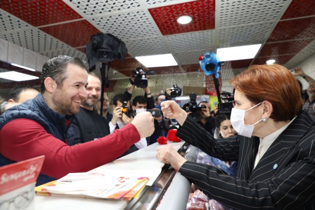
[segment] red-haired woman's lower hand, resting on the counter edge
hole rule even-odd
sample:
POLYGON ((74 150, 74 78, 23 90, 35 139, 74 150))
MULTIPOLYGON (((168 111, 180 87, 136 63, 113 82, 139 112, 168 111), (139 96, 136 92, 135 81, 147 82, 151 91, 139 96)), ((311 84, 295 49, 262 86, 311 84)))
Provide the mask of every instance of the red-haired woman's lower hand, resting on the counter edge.
POLYGON ((187 161, 170 144, 158 147, 156 157, 163 163, 171 164, 176 171, 187 161))

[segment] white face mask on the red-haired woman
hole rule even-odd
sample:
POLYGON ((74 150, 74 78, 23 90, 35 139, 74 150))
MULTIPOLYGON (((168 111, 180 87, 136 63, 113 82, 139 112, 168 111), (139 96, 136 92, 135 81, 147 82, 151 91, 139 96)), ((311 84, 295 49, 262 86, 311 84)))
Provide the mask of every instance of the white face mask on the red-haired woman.
MULTIPOLYGON (((262 102, 260 102, 257 105, 260 105, 262 102)), ((244 109, 237 109, 232 108, 231 112, 231 124, 234 128, 234 130, 241 136, 251 138, 252 132, 254 130, 254 125, 259 123, 262 119, 260 119, 258 122, 252 124, 252 125, 245 125, 244 124, 244 118, 245 118, 245 112, 248 110, 251 110, 253 107, 256 107, 257 105, 252 106, 251 108, 244 110, 244 109)))

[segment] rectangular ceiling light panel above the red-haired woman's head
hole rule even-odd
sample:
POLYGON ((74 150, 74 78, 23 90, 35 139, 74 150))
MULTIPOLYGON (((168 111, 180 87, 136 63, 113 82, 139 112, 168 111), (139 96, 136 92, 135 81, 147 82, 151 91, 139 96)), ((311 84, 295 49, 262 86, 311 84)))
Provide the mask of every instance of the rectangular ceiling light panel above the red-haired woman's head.
POLYGON ((239 47, 226 47, 217 49, 220 61, 235 61, 254 58, 261 44, 246 45, 239 47))

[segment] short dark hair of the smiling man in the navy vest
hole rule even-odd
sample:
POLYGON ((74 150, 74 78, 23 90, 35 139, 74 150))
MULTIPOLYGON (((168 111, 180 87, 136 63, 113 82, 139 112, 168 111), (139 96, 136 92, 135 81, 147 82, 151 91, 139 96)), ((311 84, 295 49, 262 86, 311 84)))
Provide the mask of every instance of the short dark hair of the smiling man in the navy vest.
POLYGON ((80 58, 72 58, 66 55, 59 55, 49 59, 43 66, 41 74, 40 92, 44 93, 45 79, 51 77, 58 85, 58 87, 63 86, 63 81, 66 79, 65 69, 68 64, 73 64, 79 66, 85 70, 89 70, 87 63, 80 58))

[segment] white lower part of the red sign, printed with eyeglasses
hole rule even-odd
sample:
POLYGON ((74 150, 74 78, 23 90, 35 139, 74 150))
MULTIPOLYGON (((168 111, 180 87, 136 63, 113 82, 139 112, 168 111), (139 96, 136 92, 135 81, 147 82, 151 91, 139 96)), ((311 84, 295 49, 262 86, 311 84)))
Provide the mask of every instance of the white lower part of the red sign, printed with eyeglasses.
POLYGON ((14 205, 14 209, 25 209, 31 204, 34 194, 35 192, 33 188, 31 191, 22 192, 9 200, 1 202, 0 210, 13 209, 13 206, 11 207, 11 205, 14 205))

